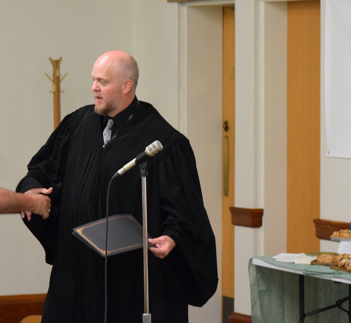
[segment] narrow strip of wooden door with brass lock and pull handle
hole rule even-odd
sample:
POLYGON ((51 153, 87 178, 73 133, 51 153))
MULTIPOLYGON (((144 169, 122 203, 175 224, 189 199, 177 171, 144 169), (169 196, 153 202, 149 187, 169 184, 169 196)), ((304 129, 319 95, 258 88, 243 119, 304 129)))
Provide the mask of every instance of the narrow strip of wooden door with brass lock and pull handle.
POLYGON ((234 205, 234 7, 223 8, 223 188, 222 188, 222 310, 223 322, 234 311, 234 226, 229 208, 234 205))

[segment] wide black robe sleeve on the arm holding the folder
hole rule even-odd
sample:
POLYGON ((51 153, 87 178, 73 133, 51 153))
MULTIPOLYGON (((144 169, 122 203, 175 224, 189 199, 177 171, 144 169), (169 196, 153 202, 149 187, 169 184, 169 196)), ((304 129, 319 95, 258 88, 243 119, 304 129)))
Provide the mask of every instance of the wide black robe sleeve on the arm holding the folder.
POLYGON ((163 234, 176 242, 164 260, 166 276, 188 304, 202 306, 217 289, 216 242, 185 137, 163 154, 158 171, 163 234))

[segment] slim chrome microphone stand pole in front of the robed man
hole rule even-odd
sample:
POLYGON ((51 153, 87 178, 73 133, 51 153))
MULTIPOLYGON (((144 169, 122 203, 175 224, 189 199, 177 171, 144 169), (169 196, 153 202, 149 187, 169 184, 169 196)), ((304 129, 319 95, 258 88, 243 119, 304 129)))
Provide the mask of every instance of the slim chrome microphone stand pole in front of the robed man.
POLYGON ((147 205, 146 205, 146 177, 147 161, 140 164, 141 176, 141 196, 143 202, 143 253, 144 253, 144 311, 143 323, 151 323, 151 314, 149 313, 149 282, 148 282, 148 261, 147 261, 147 205))

